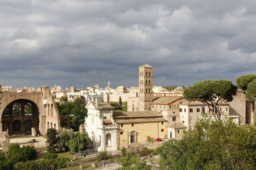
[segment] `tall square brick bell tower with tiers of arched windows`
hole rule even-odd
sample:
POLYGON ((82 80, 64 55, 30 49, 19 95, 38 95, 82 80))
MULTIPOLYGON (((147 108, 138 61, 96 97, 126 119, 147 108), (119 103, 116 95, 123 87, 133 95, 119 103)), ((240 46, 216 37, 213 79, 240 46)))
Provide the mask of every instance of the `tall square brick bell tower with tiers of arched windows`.
POLYGON ((145 64, 139 67, 139 111, 149 111, 153 94, 153 67, 145 64))

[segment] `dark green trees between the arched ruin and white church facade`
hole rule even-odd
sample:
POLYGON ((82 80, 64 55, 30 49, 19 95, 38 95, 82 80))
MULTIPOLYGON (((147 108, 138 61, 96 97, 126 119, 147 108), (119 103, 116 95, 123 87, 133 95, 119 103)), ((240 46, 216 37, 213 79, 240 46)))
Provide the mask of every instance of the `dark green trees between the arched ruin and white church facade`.
POLYGON ((63 103, 56 103, 60 115, 72 115, 72 129, 78 131, 79 125, 84 123, 84 117, 87 116, 85 104, 81 98, 75 99, 74 102, 65 101, 63 103))

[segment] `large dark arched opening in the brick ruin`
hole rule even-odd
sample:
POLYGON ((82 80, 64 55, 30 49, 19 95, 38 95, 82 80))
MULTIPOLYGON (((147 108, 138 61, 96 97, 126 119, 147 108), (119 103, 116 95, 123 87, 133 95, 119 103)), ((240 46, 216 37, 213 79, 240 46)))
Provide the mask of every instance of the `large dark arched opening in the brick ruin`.
POLYGON ((39 133, 39 111, 33 101, 18 99, 9 103, 2 113, 3 131, 9 134, 31 134, 31 128, 39 133))

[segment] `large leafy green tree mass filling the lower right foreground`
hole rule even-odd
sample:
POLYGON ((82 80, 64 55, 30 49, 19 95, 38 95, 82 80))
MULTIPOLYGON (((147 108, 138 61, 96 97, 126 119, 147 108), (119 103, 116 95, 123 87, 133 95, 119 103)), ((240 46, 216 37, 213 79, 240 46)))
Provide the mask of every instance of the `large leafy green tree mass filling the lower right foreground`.
POLYGON ((170 139, 157 150, 163 169, 255 169, 255 141, 255 127, 202 118, 184 138, 170 139))

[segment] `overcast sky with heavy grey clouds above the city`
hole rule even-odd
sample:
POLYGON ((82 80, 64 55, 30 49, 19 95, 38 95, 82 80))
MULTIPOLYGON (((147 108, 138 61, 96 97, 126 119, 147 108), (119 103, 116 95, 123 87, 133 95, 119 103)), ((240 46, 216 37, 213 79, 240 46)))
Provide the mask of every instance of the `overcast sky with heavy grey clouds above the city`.
POLYGON ((256 3, 0 0, 0 84, 83 88, 256 74, 256 3))

